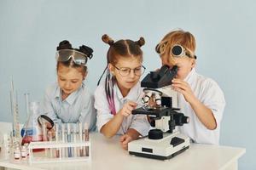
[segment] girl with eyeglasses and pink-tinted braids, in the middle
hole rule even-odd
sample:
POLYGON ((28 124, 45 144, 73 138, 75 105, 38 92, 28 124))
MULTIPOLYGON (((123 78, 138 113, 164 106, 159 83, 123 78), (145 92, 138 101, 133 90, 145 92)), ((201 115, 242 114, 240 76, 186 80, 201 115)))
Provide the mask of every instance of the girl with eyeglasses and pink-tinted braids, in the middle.
POLYGON ((108 65, 105 81, 98 83, 95 92, 96 125, 107 138, 122 135, 119 142, 127 150, 128 143, 148 134, 150 127, 146 116, 131 115, 143 97, 139 80, 145 70, 141 49, 145 42, 143 37, 137 42, 114 42, 108 35, 103 35, 102 41, 109 45, 108 65))

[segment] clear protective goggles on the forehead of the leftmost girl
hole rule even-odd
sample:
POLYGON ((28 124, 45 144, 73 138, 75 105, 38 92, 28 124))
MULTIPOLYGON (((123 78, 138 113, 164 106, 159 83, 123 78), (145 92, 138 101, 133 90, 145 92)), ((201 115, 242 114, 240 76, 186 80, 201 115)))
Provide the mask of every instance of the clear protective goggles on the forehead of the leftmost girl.
POLYGON ((85 66, 87 63, 88 57, 86 54, 83 54, 75 49, 60 49, 56 52, 55 58, 57 61, 65 62, 69 59, 73 59, 73 62, 76 65, 83 65, 85 66))

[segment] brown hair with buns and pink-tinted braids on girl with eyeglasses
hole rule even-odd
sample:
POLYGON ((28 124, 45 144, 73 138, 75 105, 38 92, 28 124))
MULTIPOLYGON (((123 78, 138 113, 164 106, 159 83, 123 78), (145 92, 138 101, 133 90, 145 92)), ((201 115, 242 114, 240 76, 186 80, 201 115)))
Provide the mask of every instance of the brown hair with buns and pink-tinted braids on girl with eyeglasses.
MULTIPOLYGON (((107 75, 105 79, 105 92, 108 99, 108 105, 111 113, 113 115, 116 114, 115 111, 115 105, 114 105, 114 99, 113 99, 113 85, 115 84, 116 80, 115 77, 113 77, 109 70, 108 70, 108 64, 116 65, 120 57, 124 58, 130 58, 134 57, 137 59, 141 59, 143 61, 143 51, 141 47, 145 44, 145 40, 143 37, 140 37, 138 41, 132 41, 130 39, 121 39, 117 42, 114 42, 111 37, 108 37, 107 34, 104 34, 102 36, 102 41, 105 43, 108 43, 110 46, 108 48, 108 54, 107 54, 107 66, 105 70, 102 73, 105 73, 107 70, 107 75)), ((99 82, 102 79, 102 76, 100 77, 99 82)), ((99 84, 98 82, 98 84, 99 84)))

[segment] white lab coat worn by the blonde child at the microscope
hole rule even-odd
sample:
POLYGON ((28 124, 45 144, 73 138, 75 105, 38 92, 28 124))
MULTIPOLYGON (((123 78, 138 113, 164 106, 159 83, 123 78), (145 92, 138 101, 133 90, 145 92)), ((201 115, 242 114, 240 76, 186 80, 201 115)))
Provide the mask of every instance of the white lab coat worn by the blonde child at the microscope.
POLYGON ((183 98, 182 94, 177 95, 177 106, 185 116, 189 116, 190 122, 178 127, 181 133, 189 136, 195 143, 201 144, 218 144, 220 122, 224 113, 225 99, 224 93, 218 87, 217 82, 211 78, 203 77, 195 72, 195 69, 190 71, 189 75, 184 79, 188 82, 190 88, 195 94, 195 97, 212 110, 213 116, 217 122, 217 128, 209 130, 205 127, 195 111, 191 108, 189 103, 183 98))

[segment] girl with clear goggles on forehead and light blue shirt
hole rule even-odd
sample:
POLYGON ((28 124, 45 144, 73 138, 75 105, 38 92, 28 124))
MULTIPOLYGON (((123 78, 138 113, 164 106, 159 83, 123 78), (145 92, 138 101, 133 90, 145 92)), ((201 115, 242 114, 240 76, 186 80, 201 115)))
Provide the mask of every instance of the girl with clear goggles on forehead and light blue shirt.
POLYGON ((93 95, 84 84, 92 52, 84 45, 72 48, 67 40, 57 47, 57 83, 49 86, 44 95, 44 113, 54 122, 86 122, 90 130, 96 127, 93 95))

